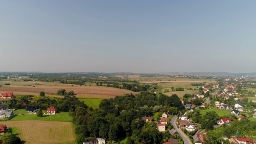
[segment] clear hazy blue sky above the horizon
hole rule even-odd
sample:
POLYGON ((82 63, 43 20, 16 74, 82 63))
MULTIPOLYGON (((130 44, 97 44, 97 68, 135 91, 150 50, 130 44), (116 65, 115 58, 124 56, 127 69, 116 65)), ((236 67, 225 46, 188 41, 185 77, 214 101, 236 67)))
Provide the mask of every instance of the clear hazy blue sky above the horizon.
POLYGON ((0 72, 256 72, 255 0, 0 1, 0 72))

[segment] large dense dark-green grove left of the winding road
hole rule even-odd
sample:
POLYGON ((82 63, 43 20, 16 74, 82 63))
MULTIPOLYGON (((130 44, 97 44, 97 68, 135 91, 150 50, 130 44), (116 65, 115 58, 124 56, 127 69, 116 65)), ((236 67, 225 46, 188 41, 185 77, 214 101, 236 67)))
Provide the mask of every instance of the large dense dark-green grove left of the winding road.
POLYGON ((155 122, 142 120, 142 116, 153 116, 151 106, 160 104, 166 104, 167 110, 169 106, 177 107, 178 110, 184 109, 177 95, 169 97, 161 94, 158 98, 150 92, 104 99, 100 102, 99 109, 95 110, 78 107, 70 112, 76 125, 76 140, 82 143, 90 136, 116 141, 127 136, 127 144, 140 144, 142 141, 160 144, 170 133, 161 133, 156 129, 155 122))

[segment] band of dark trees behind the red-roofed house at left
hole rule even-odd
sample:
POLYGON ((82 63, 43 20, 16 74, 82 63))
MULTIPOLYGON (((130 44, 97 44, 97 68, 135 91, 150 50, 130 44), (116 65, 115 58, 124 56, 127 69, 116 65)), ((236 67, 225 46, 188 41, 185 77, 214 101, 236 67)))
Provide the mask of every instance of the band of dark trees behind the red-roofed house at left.
POLYGON ((58 111, 62 112, 74 112, 77 107, 87 108, 84 102, 80 102, 75 96, 64 96, 64 98, 50 99, 48 97, 40 97, 37 102, 30 102, 34 96, 24 95, 20 98, 15 98, 7 101, 8 108, 40 108, 46 110, 48 107, 56 107, 58 111), (22 105, 21 102, 25 102, 22 105))

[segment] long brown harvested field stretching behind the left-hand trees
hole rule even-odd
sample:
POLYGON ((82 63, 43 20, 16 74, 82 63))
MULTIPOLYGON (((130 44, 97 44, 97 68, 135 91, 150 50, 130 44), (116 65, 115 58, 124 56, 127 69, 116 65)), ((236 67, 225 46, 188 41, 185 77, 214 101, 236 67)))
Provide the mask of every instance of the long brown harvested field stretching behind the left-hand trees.
POLYGON ((2 86, 0 87, 0 93, 13 92, 14 94, 32 94, 39 95, 40 92, 44 91, 46 96, 63 97, 50 95, 50 93, 56 93, 59 89, 65 89, 66 91, 73 90, 74 94, 78 98, 114 98, 123 94, 138 94, 130 90, 105 87, 105 86, 2 86))

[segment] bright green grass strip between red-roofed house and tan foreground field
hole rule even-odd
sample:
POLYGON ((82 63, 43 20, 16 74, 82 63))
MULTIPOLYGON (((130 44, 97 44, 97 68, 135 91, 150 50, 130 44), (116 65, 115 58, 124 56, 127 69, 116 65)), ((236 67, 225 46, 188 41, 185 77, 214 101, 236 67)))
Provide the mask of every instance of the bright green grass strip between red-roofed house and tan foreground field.
POLYGON ((43 115, 43 117, 38 117, 36 114, 25 114, 15 116, 10 121, 16 120, 46 120, 46 121, 58 121, 58 122, 71 122, 72 117, 68 115, 68 112, 60 112, 56 115, 43 115))

